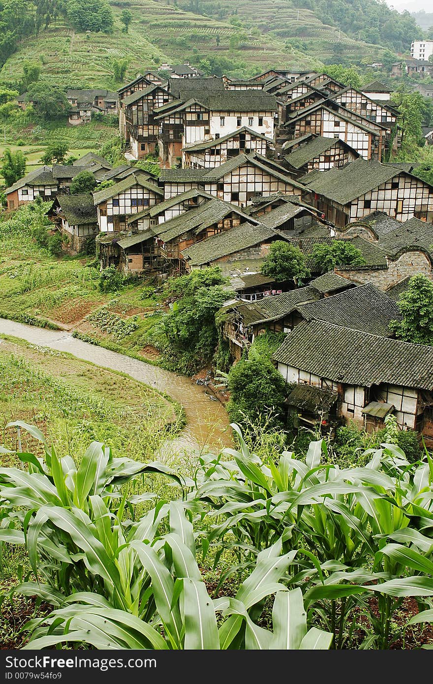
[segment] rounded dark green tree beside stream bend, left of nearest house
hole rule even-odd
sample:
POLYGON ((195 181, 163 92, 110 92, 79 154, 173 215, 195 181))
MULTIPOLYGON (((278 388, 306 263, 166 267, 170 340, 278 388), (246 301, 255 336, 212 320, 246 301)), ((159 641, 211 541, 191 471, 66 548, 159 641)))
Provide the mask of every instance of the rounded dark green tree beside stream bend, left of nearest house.
MULTIPOLYGON (((227 410, 235 423, 267 423, 270 414, 278 421, 284 413, 287 384, 270 361, 241 358, 228 373, 231 393, 227 410)), ((280 421, 278 421, 280 422, 280 421)))

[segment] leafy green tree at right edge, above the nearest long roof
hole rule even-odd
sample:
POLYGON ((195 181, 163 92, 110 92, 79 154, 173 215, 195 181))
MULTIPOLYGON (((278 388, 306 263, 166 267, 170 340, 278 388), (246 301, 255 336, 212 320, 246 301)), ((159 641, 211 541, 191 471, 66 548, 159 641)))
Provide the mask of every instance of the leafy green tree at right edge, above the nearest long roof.
POLYGON ((422 273, 412 276, 397 301, 401 321, 391 321, 397 339, 433 346, 433 282, 422 273))

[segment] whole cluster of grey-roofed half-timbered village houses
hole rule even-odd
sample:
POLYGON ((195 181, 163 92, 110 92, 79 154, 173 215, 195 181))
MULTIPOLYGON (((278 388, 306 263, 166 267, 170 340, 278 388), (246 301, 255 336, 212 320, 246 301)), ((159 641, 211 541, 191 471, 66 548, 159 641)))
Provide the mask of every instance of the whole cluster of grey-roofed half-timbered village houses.
POLYGON ((116 98, 71 91, 76 122, 83 98, 118 112, 124 165, 89 153, 73 166, 44 166, 5 191, 8 209, 53 199, 49 216, 73 250, 96 236, 101 267, 124 274, 220 266, 237 293, 224 307, 233 358, 257 335, 285 332, 274 362, 294 383, 289 406, 304 424, 339 415, 376 429, 393 413, 433 443, 433 347, 389 329, 410 276, 433 279, 433 187, 410 163, 390 161, 402 135, 390 93, 378 81, 361 92, 323 73, 237 81, 187 66, 165 80, 149 70, 116 98), (148 155, 159 159, 158 178, 133 166, 148 155), (114 183, 71 195, 82 170, 114 183), (365 263, 320 274, 311 253, 336 240, 365 263), (261 274, 274 241, 306 256, 304 287, 261 274))

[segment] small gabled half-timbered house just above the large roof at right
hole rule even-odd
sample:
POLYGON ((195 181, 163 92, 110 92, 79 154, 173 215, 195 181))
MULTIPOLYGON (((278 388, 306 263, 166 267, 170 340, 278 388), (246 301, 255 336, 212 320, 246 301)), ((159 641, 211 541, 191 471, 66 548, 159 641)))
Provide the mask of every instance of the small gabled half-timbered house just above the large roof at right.
POLYGON ((291 140, 283 145, 285 162, 296 178, 317 169, 328 171, 341 167, 360 156, 354 148, 339 137, 322 137, 309 133, 302 142, 291 140))

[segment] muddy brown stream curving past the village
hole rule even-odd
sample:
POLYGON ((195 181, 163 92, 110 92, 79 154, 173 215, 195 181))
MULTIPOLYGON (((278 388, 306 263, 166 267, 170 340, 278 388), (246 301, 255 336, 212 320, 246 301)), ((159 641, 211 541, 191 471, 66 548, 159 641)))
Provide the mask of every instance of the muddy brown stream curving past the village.
MULTIPOLYGON (((170 443, 170 450, 208 449, 215 452, 221 447, 232 445, 231 428, 228 427, 229 420, 224 406, 218 401, 212 401, 206 394, 206 388, 196 385, 185 376, 82 342, 69 332, 45 330, 0 318, 0 333, 13 335, 60 352, 69 352, 77 358, 91 361, 96 366, 126 373, 134 380, 140 380, 161 392, 166 392, 182 404, 187 419, 184 430, 173 443, 170 443)), ((97 372, 96 367, 95 373, 97 372)))

